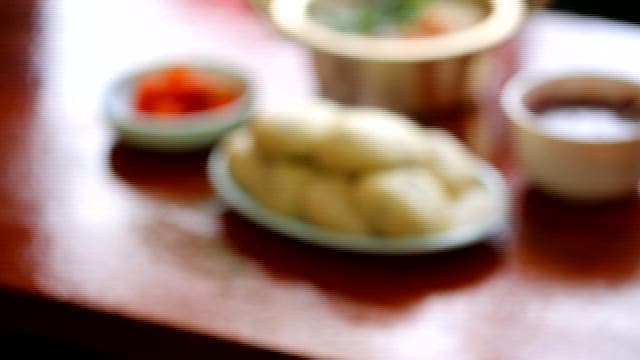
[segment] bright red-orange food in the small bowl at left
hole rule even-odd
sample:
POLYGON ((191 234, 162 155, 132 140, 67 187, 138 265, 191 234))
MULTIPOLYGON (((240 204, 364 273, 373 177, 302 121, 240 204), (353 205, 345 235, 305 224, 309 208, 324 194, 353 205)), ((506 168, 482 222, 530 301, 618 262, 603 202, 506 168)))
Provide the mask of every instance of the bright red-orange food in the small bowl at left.
MULTIPOLYGON (((239 81, 188 66, 173 66, 142 76, 135 86, 134 104, 139 112, 180 115, 214 110, 242 95, 239 81)), ((179 116, 165 117, 167 121, 179 116)))

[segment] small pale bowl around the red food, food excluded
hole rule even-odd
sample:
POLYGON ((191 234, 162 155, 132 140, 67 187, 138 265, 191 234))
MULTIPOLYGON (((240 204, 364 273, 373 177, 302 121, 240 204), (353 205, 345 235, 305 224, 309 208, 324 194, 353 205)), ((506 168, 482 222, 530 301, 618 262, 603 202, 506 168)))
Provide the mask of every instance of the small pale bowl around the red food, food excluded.
POLYGON ((105 110, 107 120, 116 129, 120 139, 127 144, 151 150, 190 151, 211 146, 227 131, 244 123, 253 111, 252 92, 251 84, 246 77, 226 65, 163 64, 136 71, 115 82, 107 91, 105 110), (243 86, 244 91, 233 102, 213 110, 176 115, 155 115, 137 111, 133 103, 137 81, 144 75, 173 65, 230 76, 243 86), (180 119, 162 120, 167 117, 180 119))

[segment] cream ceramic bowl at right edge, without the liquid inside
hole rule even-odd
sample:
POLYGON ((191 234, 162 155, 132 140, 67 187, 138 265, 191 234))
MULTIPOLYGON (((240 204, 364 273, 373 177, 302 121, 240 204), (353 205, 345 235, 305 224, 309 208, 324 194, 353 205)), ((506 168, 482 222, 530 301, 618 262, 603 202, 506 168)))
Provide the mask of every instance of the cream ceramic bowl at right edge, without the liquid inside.
POLYGON ((567 200, 588 202, 637 191, 640 127, 619 139, 581 139, 544 128, 528 104, 596 102, 640 107, 639 81, 607 73, 521 74, 506 85, 501 100, 517 160, 537 187, 567 200))

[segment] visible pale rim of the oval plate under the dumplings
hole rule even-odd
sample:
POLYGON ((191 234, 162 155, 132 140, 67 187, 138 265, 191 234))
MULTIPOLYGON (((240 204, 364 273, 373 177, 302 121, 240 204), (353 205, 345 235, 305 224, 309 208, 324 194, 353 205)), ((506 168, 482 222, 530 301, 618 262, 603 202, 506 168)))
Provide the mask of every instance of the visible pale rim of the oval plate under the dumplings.
POLYGON ((508 198, 505 181, 497 170, 485 162, 482 162, 480 180, 487 191, 500 202, 499 210, 495 214, 487 216, 482 222, 439 233, 404 238, 331 232, 300 219, 269 210, 236 183, 229 172, 228 158, 221 150, 211 152, 207 171, 216 193, 231 208, 246 218, 282 235, 336 250, 379 255, 442 252, 487 240, 500 232, 507 220, 508 198))

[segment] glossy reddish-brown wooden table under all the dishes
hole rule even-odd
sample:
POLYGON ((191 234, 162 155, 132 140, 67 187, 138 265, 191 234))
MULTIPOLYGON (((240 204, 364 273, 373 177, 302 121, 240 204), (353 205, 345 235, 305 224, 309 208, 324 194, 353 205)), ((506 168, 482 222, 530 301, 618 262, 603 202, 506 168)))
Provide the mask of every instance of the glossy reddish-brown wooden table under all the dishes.
MULTIPOLYGON (((508 175, 510 229, 440 255, 299 244, 221 208, 205 152, 118 144, 104 90, 155 61, 236 63, 259 86, 260 106, 314 94, 304 49, 243 4, 0 6, 0 322, 125 354, 197 345, 360 359, 640 356, 640 201, 578 208, 530 189, 495 101, 446 125, 508 175)), ((635 76, 640 63, 640 29, 569 15, 536 16, 518 44, 525 70, 635 76)), ((497 58, 513 59, 510 49, 497 58)))

